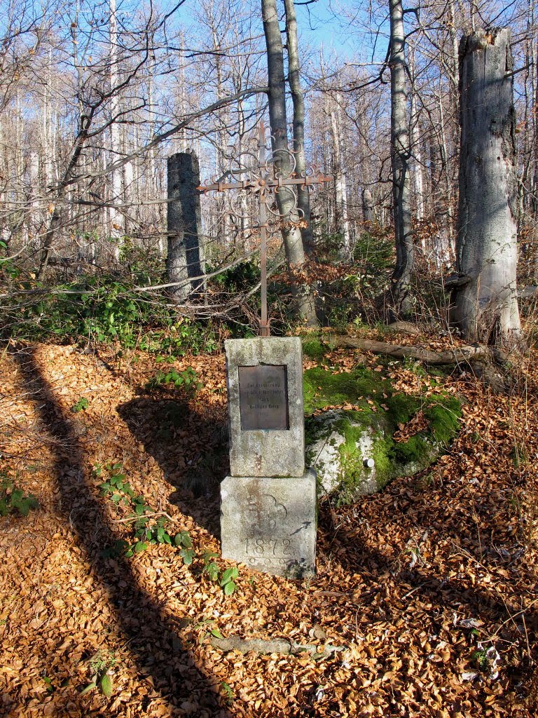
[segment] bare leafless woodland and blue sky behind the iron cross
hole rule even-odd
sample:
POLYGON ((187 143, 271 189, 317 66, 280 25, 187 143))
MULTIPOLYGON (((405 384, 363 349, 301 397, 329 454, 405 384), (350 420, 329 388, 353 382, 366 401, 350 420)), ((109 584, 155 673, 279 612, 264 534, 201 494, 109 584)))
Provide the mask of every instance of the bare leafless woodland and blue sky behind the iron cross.
MULTIPOLYGON (((315 254, 318 261, 344 265, 339 283, 326 293, 341 297, 344 281, 344 293, 353 300, 345 307, 327 301, 321 318, 344 326, 364 315, 365 299, 368 304, 387 289, 393 269, 389 14, 384 4, 318 2, 297 4, 297 12, 306 162, 334 179, 311 200, 315 254)), ((32 291, 36 280, 56 286, 74 272, 95 274, 98 267, 117 272, 122 265, 128 284, 166 283, 166 157, 194 152, 202 180, 222 177, 230 157, 256 141, 267 85, 259 9, 230 2, 6 3, 4 17, 0 251, 6 289, 32 291)), ((430 3, 403 8, 402 22, 415 276, 423 286, 426 277, 433 279, 429 308, 405 309, 423 319, 432 319, 433 312, 446 327, 443 276, 456 260, 458 40, 481 27, 511 29, 519 279, 534 284, 535 9, 532 2, 430 3)), ((234 231, 227 212, 222 195, 203 197, 200 241, 205 269, 216 277, 209 288, 231 289, 232 301, 219 294, 204 309, 183 314, 220 315, 245 326, 255 311, 242 300, 256 279, 258 236, 234 231)), ((273 250, 275 266, 278 251, 273 250)), ((109 280, 93 276, 86 289, 99 291, 109 280)), ((36 324, 45 333, 55 331, 48 317, 64 300, 47 304, 44 312, 46 296, 33 302, 28 295, 14 299, 4 292, 9 335, 32 334, 36 324)), ((74 301, 84 295, 70 296, 74 301)), ((139 293, 136 312, 144 306, 141 299, 139 293)), ((277 304, 273 311, 283 314, 277 304)), ((91 333, 92 327, 83 331, 91 333)))

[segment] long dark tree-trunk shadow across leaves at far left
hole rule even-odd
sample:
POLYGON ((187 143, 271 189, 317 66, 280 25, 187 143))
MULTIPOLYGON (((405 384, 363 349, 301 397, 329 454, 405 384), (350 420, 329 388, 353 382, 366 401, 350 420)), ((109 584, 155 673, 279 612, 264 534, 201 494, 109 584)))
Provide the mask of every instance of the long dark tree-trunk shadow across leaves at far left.
MULTIPOLYGON (((177 715, 227 717, 229 712, 222 706, 216 684, 194 665, 192 653, 181 640, 177 623, 163 616, 152 597, 138 584, 128 559, 116 558, 118 569, 114 570, 110 561, 100 556, 100 548, 112 544, 116 536, 89 480, 90 468, 84 460, 80 442, 44 378, 34 350, 23 348, 12 350, 12 353, 25 388, 36 393, 35 401, 43 424, 57 441, 55 471, 65 522, 80 540, 95 581, 108 592, 117 626, 138 665, 141 679, 150 676, 156 691, 169 706, 179 708, 177 715), (73 481, 73 470, 82 477, 81 482, 73 481), (81 498, 84 499, 83 511, 80 510, 81 498), (97 523, 100 524, 98 544, 95 541, 97 523), (184 701, 191 707, 183 711, 181 703, 184 701)), ((147 403, 136 406, 140 412, 148 408, 147 403)), ((181 617, 177 619, 181 620, 181 617)), ((78 696, 70 696, 69 700, 71 703, 83 702, 78 696)), ((143 706, 141 710, 143 712, 143 706)))

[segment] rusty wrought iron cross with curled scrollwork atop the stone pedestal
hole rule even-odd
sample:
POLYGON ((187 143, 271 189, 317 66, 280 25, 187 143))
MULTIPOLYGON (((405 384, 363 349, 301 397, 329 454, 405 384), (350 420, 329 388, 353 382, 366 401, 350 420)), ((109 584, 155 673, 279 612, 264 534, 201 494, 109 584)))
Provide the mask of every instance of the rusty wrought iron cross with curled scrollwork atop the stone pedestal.
MULTIPOLYGON (((269 139, 273 140, 272 137, 269 139)), ((260 230, 260 287, 261 287, 261 318, 260 318, 260 336, 268 337, 270 335, 268 314, 267 314, 267 232, 269 228, 268 217, 273 217, 282 220, 281 215, 278 214, 278 210, 275 212, 271 208, 271 199, 279 190, 283 187, 291 188, 297 187, 298 190, 308 191, 312 185, 318 185, 321 182, 329 182, 330 177, 324 177, 319 175, 313 177, 313 174, 304 172, 300 177, 296 175, 295 157, 293 152, 285 150, 285 153, 291 158, 291 172, 283 177, 280 172, 277 171, 275 166, 275 155, 282 156, 283 150, 276 150, 270 153, 270 157, 266 156, 266 142, 265 136, 265 125, 263 122, 260 123, 260 132, 258 135, 258 157, 250 151, 244 151, 240 156, 232 157, 230 162, 230 170, 224 175, 224 177, 232 177, 235 182, 221 182, 214 181, 211 185, 200 185, 197 190, 204 192, 225 192, 226 190, 242 190, 247 196, 258 196, 259 201, 259 212, 258 212, 258 226, 260 230), (254 159, 255 164, 249 162, 248 166, 244 164, 243 158, 247 157, 250 160, 254 159), (248 174, 247 179, 242 179, 242 175, 248 174)), ((273 144, 274 146, 274 144, 273 144)), ((295 200, 294 210, 301 213, 301 210, 297 209, 297 197, 293 192, 295 200)), ((235 217, 246 217, 242 215, 235 207, 232 211, 232 215, 235 217)))

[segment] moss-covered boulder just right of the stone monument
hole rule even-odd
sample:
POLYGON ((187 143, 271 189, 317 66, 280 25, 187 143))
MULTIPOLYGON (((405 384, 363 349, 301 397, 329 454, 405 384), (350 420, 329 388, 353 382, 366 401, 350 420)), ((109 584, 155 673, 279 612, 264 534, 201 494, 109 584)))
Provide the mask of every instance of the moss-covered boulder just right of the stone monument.
POLYGON ((342 501, 374 493, 443 452, 458 431, 461 401, 433 392, 434 378, 424 385, 422 395, 398 393, 389 378, 362 365, 305 372, 306 460, 321 493, 336 492, 342 501))

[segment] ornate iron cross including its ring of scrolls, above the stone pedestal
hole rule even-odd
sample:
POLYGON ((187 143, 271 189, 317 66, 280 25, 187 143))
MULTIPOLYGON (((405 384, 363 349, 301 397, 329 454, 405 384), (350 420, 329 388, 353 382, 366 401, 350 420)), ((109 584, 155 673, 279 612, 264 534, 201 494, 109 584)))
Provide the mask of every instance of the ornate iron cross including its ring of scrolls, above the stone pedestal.
MULTIPOLYGON (((329 182, 330 177, 314 176, 311 170, 300 175, 296 173, 296 159, 293 151, 288 149, 271 149, 274 138, 265 136, 265 125, 260 123, 258 136, 258 153, 250 149, 240 151, 230 158, 230 167, 220 180, 211 184, 201 185, 197 190, 204 192, 226 192, 235 190, 230 196, 230 215, 235 225, 245 220, 252 222, 254 215, 249 211, 252 198, 258 199, 258 225, 260 230, 260 269, 261 269, 261 320, 260 336, 270 334, 267 313, 267 235, 268 231, 279 229, 285 219, 278 212, 275 195, 287 192, 293 198, 289 215, 302 219, 302 210, 297 206, 297 191, 311 191, 313 185, 329 182), (267 146, 270 142, 270 147, 267 146), (285 157, 284 157, 285 155, 285 157), (285 161, 283 161, 285 160, 285 161), (289 168, 283 174, 281 166, 289 168), (224 182, 222 180, 230 180, 224 182)), ((287 216, 289 216, 287 215, 287 216)))

